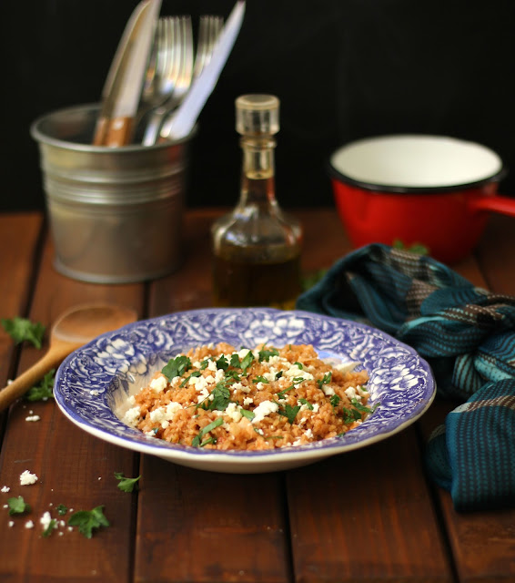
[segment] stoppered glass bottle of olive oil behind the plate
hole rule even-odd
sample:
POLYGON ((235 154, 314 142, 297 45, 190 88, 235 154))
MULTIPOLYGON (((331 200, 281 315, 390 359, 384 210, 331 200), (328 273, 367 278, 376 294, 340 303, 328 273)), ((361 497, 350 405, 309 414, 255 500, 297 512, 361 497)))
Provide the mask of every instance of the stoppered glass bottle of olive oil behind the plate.
POLYGON ((237 97, 241 191, 236 208, 212 228, 217 306, 291 309, 300 293, 302 229, 279 208, 275 192, 278 118, 277 97, 237 97))

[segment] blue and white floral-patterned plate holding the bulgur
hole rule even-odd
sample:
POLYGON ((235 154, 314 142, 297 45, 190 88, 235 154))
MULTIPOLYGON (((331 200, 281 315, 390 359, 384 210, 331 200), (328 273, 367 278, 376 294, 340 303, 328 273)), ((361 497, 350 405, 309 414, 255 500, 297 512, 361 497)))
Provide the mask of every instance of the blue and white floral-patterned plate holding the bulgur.
POLYGON ((107 332, 66 358, 56 374, 56 402, 79 427, 100 439, 180 465, 217 472, 258 473, 307 465, 398 433, 431 404, 435 382, 415 350, 369 326, 310 312, 267 308, 195 310, 134 322, 107 332), (207 343, 239 348, 313 344, 321 358, 359 362, 369 373, 369 418, 346 435, 262 452, 173 445, 127 426, 126 399, 177 353, 207 343))

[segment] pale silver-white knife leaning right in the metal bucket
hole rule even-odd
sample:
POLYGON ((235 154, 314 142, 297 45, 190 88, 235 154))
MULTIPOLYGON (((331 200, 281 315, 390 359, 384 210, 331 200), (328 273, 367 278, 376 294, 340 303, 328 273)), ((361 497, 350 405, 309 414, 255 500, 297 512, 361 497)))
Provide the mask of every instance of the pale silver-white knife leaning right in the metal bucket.
POLYGON ((227 58, 234 46, 243 16, 245 15, 245 0, 238 0, 227 18, 226 26, 218 36, 217 46, 213 50, 211 60, 204 67, 200 75, 193 82, 187 97, 177 111, 175 111, 163 124, 160 132, 161 138, 181 139, 191 132, 202 107, 217 85, 218 77, 227 58))

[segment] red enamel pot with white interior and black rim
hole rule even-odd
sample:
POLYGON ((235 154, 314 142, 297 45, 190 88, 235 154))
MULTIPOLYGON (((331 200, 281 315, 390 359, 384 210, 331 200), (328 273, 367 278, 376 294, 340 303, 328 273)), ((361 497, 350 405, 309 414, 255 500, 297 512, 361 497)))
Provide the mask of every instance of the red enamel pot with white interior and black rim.
POLYGON ((439 261, 466 257, 489 211, 515 217, 497 194, 507 169, 480 144, 444 136, 365 138, 338 148, 329 174, 338 214, 355 247, 420 243, 439 261))

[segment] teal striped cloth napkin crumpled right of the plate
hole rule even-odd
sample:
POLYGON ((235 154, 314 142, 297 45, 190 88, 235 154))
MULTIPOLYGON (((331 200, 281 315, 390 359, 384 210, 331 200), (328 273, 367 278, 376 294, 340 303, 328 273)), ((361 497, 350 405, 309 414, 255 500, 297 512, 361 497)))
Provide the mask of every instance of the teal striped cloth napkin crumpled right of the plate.
POLYGON ((415 348, 459 401, 426 463, 456 510, 515 507, 515 297, 430 257, 374 243, 337 261, 298 310, 368 323, 415 348))

